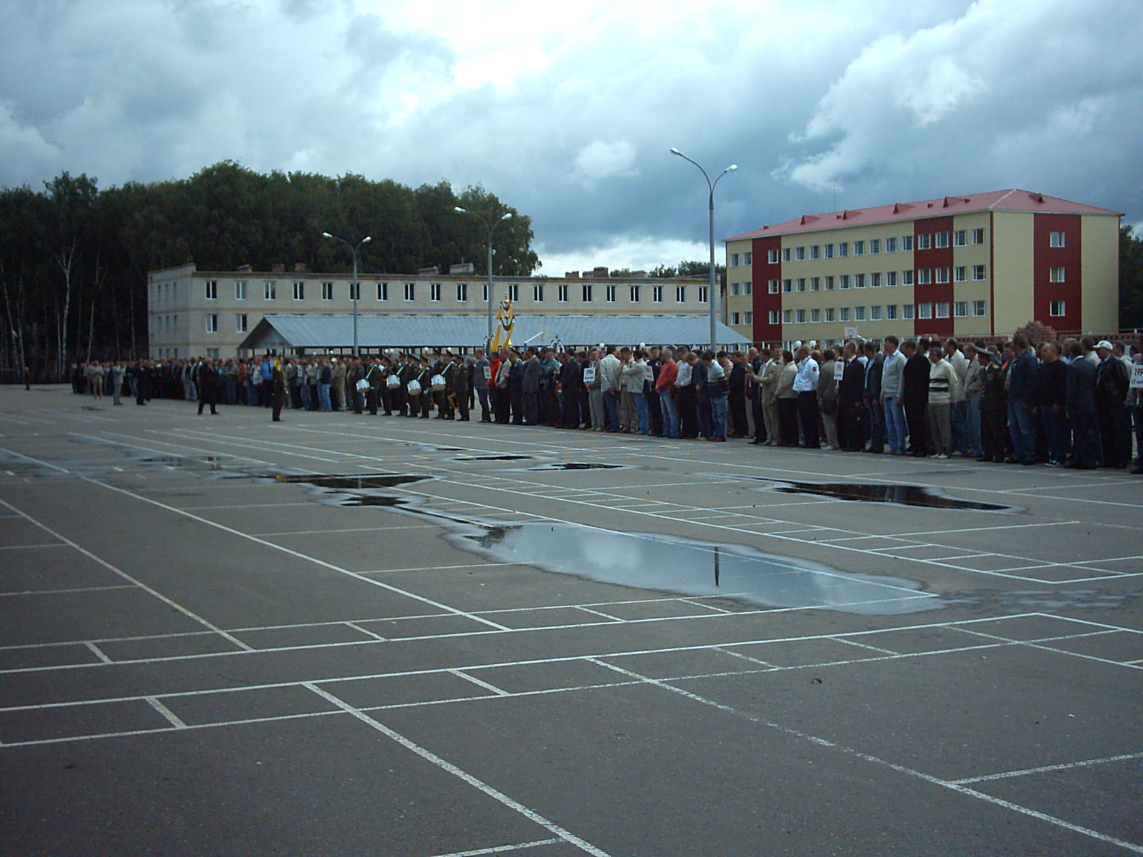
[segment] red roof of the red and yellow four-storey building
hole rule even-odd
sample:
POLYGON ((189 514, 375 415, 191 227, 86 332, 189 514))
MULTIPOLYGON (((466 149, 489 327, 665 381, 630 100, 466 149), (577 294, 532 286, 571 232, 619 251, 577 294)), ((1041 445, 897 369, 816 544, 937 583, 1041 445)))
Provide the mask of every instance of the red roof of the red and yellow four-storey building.
POLYGON ((802 215, 798 219, 786 221, 773 226, 762 226, 753 232, 732 235, 724 241, 744 241, 769 235, 788 235, 797 232, 815 232, 833 230, 842 226, 869 226, 877 223, 894 221, 912 221, 920 217, 946 217, 950 215, 973 214, 976 211, 1045 211, 1048 214, 1094 214, 1122 216, 1121 211, 1086 206, 1048 197, 1033 191, 1010 189, 1007 191, 989 191, 960 197, 937 197, 919 202, 895 202, 892 206, 873 206, 872 208, 847 209, 829 214, 802 215))

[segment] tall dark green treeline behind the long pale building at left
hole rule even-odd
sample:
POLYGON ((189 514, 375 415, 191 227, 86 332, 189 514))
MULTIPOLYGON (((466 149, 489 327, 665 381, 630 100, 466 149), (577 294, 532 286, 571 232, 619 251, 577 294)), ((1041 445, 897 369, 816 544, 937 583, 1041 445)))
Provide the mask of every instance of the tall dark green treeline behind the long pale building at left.
POLYGON ((497 274, 539 266, 531 221, 481 187, 448 182, 410 189, 389 179, 261 174, 231 161, 190 178, 127 183, 64 173, 43 190, 0 191, 0 369, 63 377, 77 360, 146 354, 146 274, 193 262, 200 271, 303 263, 347 272, 351 243, 362 272, 408 273, 472 262, 485 272, 488 219, 511 211, 493 237, 497 274))

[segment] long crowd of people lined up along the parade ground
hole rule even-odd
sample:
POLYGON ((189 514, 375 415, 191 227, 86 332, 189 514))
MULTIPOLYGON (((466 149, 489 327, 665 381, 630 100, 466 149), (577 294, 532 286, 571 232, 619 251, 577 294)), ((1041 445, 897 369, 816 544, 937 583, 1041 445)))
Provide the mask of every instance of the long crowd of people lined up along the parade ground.
POLYGON ((138 405, 198 401, 199 414, 261 406, 275 421, 283 409, 458 421, 479 409, 485 423, 1086 470, 1127 467, 1143 449, 1143 391, 1130 386, 1141 363, 1143 335, 1130 346, 1084 337, 1038 347, 1022 334, 992 346, 887 336, 793 352, 600 346, 93 362, 74 367, 73 386, 115 405, 125 389, 138 405))

